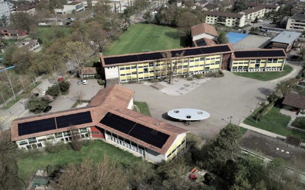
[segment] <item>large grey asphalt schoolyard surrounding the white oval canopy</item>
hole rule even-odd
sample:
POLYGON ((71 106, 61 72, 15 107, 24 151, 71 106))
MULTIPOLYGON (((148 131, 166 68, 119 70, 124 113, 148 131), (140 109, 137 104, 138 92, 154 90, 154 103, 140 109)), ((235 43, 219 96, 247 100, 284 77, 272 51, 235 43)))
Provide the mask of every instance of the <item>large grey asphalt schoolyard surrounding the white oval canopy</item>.
MULTIPOLYGON (((292 66, 294 70, 287 78, 295 77, 300 69, 299 66, 292 66)), ((236 125, 245 120, 277 83, 278 80, 264 82, 225 72, 223 78, 213 78, 182 96, 167 95, 144 84, 123 86, 135 91, 135 101, 145 101, 148 104, 153 118, 167 121, 209 139, 219 133, 230 120, 236 125), (210 113, 210 118, 185 126, 167 116, 167 111, 175 108, 205 110, 210 113)))

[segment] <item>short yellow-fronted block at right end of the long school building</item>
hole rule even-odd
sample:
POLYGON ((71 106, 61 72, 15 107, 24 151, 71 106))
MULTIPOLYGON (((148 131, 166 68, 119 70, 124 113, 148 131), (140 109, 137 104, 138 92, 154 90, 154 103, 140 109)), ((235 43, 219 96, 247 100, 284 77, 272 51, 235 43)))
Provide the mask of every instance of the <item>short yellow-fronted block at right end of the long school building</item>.
POLYGON ((231 57, 230 71, 282 71, 286 58, 283 49, 235 51, 231 57))

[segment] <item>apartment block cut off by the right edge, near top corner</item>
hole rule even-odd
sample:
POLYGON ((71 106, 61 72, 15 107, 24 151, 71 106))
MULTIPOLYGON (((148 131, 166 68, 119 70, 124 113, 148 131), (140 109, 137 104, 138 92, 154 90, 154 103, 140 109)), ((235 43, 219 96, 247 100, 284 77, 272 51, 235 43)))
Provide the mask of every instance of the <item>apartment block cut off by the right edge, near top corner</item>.
POLYGON ((295 13, 287 21, 287 30, 304 31, 305 29, 305 11, 295 13))

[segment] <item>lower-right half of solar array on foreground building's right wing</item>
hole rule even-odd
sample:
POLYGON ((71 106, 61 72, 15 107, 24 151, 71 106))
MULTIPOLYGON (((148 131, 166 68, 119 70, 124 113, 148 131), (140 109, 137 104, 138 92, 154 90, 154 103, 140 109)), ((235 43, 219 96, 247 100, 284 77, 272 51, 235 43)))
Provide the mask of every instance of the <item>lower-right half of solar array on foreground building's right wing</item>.
POLYGON ((168 134, 151 129, 141 124, 135 125, 135 127, 130 131, 129 135, 158 148, 162 148, 169 137, 168 134))

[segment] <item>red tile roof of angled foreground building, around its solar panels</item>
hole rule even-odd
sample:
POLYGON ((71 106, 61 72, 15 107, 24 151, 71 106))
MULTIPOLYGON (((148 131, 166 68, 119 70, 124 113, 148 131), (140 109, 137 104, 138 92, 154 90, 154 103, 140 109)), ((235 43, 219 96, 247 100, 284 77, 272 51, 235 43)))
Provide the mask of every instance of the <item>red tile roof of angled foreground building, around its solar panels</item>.
POLYGON ((11 123, 11 139, 12 139, 12 141, 23 140, 26 138, 43 136, 43 135, 53 134, 53 133, 57 133, 57 132, 63 132, 63 131, 71 130, 71 128, 79 129, 79 128, 90 127, 90 126, 98 126, 98 127, 104 128, 108 131, 114 132, 117 135, 120 135, 124 138, 130 139, 130 140, 134 141, 135 143, 138 143, 151 150, 156 151, 157 153, 165 154, 167 152, 168 148, 171 146, 171 144, 176 139, 178 134, 187 133, 189 131, 176 127, 174 125, 168 124, 166 122, 148 117, 146 115, 143 115, 142 113, 138 113, 136 111, 127 109, 127 106, 129 104, 130 100, 132 99, 133 94, 134 94, 134 91, 121 87, 119 85, 115 85, 115 86, 100 90, 86 107, 50 112, 50 113, 45 113, 42 115, 29 116, 29 117, 24 117, 24 118, 18 118, 11 123), (90 115, 92 117, 91 123, 18 136, 18 124, 19 123, 37 121, 37 120, 53 118, 53 117, 58 117, 58 116, 66 116, 66 115, 70 115, 73 113, 79 113, 79 112, 85 112, 85 111, 90 111, 90 115), (104 118, 104 116, 107 114, 107 112, 114 113, 115 115, 118 115, 120 117, 126 118, 128 120, 142 124, 146 127, 149 127, 149 128, 158 130, 160 132, 163 132, 165 134, 168 134, 169 138, 167 139, 165 144, 162 146, 162 148, 159 148, 159 147, 153 146, 151 144, 148 144, 142 140, 129 136, 125 133, 117 131, 113 128, 105 126, 105 125, 101 124, 100 121, 104 118))

